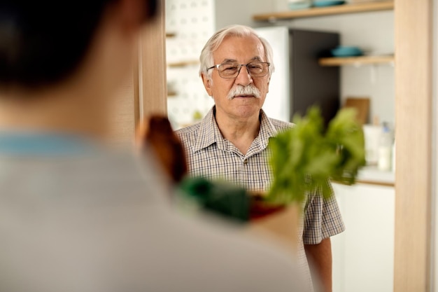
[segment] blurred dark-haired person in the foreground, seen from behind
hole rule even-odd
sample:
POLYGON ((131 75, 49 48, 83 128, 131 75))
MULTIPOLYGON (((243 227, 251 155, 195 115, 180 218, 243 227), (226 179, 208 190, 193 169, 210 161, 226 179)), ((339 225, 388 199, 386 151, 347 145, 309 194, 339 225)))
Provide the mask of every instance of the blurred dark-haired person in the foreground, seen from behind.
POLYGON ((103 145, 154 1, 0 1, 0 291, 302 291, 280 251, 181 216, 103 145))

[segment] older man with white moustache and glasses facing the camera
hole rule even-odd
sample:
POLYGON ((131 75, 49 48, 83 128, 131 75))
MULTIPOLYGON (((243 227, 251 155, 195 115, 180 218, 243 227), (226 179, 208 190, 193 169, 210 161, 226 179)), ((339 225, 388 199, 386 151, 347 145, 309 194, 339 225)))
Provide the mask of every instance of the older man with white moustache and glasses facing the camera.
MULTIPOLYGON (((227 179, 249 190, 267 190, 269 138, 291 127, 268 118, 262 106, 274 71, 269 43, 253 29, 220 29, 202 50, 199 74, 215 106, 196 125, 177 132, 185 146, 189 172, 227 179)), ((325 291, 332 291, 330 237, 344 230, 337 202, 309 195, 299 228, 299 260, 311 289, 307 257, 325 291)))

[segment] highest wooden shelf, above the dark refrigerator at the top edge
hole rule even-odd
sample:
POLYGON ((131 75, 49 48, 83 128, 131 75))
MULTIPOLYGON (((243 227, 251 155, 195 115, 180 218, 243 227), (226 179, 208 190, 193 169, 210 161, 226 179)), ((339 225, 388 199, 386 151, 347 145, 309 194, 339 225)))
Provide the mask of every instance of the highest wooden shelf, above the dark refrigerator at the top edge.
POLYGON ((394 1, 367 2, 358 4, 344 4, 339 6, 315 7, 297 11, 284 11, 277 13, 264 13, 253 15, 256 21, 276 21, 293 18, 311 18, 323 15, 336 15, 346 13, 362 13, 369 11, 386 11, 394 9, 394 1))

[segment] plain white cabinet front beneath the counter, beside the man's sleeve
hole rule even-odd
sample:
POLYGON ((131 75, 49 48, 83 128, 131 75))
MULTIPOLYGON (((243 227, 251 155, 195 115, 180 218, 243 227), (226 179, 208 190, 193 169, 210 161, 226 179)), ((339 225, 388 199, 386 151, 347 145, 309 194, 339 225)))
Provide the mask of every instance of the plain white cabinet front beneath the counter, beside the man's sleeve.
POLYGON ((392 292, 395 189, 334 184, 346 231, 332 237, 333 291, 392 292))

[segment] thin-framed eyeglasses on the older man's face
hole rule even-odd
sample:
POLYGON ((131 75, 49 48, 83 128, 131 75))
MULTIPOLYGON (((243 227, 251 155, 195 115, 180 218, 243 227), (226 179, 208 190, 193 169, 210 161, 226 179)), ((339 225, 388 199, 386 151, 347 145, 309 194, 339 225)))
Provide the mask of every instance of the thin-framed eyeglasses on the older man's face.
POLYGON ((235 63, 224 63, 224 64, 216 64, 207 69, 216 68, 218 69, 219 76, 222 78, 236 78, 239 76, 240 69, 242 67, 246 67, 248 74, 251 77, 263 77, 268 74, 269 71, 268 62, 250 62, 248 64, 235 64, 235 63))

